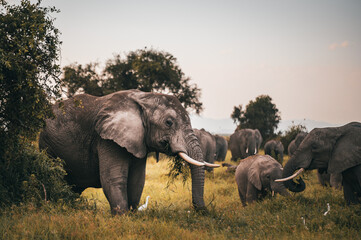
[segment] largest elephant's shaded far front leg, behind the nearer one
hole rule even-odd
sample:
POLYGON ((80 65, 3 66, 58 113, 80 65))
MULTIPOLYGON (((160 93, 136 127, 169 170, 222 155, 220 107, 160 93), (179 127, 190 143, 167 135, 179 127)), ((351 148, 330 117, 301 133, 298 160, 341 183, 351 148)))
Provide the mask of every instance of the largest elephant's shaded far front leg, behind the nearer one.
POLYGON ((137 209, 145 182, 146 158, 134 158, 128 175, 128 205, 137 209))

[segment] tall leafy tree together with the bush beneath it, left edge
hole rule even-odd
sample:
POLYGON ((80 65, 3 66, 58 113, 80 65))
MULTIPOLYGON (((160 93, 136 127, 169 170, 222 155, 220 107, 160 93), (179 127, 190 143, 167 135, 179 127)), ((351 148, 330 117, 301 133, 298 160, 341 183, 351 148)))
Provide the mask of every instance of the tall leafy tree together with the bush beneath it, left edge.
POLYGON ((59 160, 39 153, 34 140, 59 90, 59 31, 40 1, 0 2, 0 205, 70 194, 59 160), (55 190, 57 189, 57 190, 55 190))

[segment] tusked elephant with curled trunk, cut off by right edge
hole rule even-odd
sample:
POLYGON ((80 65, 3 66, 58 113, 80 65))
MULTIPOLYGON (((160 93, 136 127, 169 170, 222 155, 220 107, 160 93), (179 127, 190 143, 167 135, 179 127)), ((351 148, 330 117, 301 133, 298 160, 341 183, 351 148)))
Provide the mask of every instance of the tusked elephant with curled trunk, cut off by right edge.
POLYGON ((306 188, 302 178, 298 183, 292 179, 302 171, 312 169, 342 174, 346 203, 361 203, 361 123, 313 129, 285 165, 283 178, 277 181, 283 181, 292 192, 302 192, 306 188))

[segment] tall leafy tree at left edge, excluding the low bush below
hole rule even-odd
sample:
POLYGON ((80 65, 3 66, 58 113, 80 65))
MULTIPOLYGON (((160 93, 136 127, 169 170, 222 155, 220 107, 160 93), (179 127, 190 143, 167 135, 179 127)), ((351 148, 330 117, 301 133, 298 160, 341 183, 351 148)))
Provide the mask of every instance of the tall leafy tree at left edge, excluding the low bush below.
POLYGON ((34 137, 51 115, 49 96, 59 90, 60 41, 48 14, 56 11, 40 7, 40 1, 1 4, 0 131, 7 137, 34 137))

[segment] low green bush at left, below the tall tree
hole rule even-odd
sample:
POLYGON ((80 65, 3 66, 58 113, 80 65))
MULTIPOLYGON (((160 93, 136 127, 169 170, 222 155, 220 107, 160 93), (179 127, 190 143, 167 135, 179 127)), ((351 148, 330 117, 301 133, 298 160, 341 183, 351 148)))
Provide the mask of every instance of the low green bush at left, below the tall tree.
POLYGON ((0 205, 46 201, 74 201, 74 193, 64 180, 63 161, 48 157, 32 144, 19 141, 9 151, 9 159, 1 159, 0 205))

